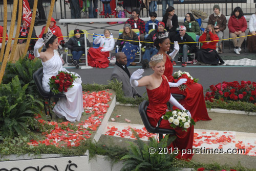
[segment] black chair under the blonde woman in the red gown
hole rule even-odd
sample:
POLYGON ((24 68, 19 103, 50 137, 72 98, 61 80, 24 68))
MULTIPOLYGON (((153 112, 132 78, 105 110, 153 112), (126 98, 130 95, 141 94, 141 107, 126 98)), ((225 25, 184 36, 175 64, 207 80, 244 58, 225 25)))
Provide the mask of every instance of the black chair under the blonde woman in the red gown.
POLYGON ((141 102, 141 104, 139 106, 139 113, 140 113, 141 119, 143 121, 143 124, 144 124, 146 130, 153 134, 155 134, 155 133, 159 134, 159 140, 161 140, 163 138, 163 134, 174 135, 175 134, 174 130, 163 129, 163 128, 158 128, 158 130, 157 130, 157 128, 151 126, 150 121, 148 120, 147 114, 146 114, 147 106, 148 106, 148 101, 141 102))

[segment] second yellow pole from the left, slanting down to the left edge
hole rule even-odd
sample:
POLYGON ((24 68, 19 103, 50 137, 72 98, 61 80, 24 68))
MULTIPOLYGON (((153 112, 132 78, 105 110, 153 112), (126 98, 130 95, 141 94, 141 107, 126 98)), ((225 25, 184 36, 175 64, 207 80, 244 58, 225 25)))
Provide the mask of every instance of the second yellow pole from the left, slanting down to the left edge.
MULTIPOLYGON (((5 0, 5 1, 7 1, 7 0, 5 0)), ((6 3, 7 3, 7 2, 6 2, 6 3)), ((7 63, 8 56, 9 56, 10 47, 11 47, 11 44, 12 44, 11 39, 12 39, 14 27, 15 27, 17 5, 18 5, 18 0, 14 0, 14 1, 13 1, 12 20, 11 20, 10 33, 9 33, 9 39, 10 39, 10 40, 9 40, 8 43, 7 43, 4 61, 3 61, 3 64, 2 64, 1 70, 0 70, 0 84, 2 83, 2 79, 3 79, 4 73, 5 73, 6 63, 7 63)), ((7 12, 6 12, 6 13, 7 13, 7 12)))

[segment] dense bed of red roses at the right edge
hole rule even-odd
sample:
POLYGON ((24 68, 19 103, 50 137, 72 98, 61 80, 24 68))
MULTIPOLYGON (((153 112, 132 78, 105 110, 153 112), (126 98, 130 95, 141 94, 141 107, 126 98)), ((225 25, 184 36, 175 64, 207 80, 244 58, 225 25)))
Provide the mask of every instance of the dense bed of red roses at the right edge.
POLYGON ((256 83, 251 81, 222 82, 216 85, 210 85, 207 90, 205 101, 241 101, 256 103, 256 83))

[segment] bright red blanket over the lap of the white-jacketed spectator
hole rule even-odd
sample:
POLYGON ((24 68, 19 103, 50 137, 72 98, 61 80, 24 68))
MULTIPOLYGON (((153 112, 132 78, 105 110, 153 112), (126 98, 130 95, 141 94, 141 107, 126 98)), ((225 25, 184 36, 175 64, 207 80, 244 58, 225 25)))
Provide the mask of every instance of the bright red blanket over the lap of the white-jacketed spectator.
POLYGON ((109 66, 109 55, 110 52, 101 52, 100 50, 103 47, 99 47, 99 48, 89 48, 88 50, 88 65, 92 66, 92 67, 98 67, 98 68, 106 68, 109 66))

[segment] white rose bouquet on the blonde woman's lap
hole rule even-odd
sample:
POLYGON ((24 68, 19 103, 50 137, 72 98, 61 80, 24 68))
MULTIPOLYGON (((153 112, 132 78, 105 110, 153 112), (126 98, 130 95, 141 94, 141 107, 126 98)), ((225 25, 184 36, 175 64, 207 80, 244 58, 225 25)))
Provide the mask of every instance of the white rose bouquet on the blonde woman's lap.
POLYGON ((171 127, 181 127, 184 131, 187 131, 190 125, 196 125, 194 119, 189 117, 187 112, 188 110, 184 111, 179 109, 168 111, 163 116, 163 119, 168 120, 171 127))

